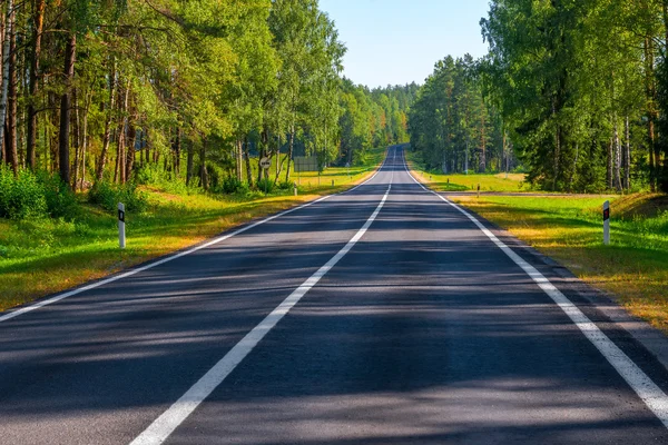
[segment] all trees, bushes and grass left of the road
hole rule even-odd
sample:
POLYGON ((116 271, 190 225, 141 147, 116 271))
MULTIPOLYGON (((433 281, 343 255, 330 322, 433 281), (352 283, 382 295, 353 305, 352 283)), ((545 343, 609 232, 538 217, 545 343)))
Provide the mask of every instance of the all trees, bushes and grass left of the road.
POLYGON ((0 29, 0 310, 342 190, 407 140, 418 86, 343 78, 317 0, 10 0, 0 29))

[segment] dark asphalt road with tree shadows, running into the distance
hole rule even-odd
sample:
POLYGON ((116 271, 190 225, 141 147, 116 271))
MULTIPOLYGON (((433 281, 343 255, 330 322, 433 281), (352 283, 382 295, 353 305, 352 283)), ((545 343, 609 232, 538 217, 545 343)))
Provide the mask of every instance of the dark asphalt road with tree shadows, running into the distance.
POLYGON ((1 320, 0 443, 668 443, 666 369, 536 268, 392 147, 352 191, 1 320))

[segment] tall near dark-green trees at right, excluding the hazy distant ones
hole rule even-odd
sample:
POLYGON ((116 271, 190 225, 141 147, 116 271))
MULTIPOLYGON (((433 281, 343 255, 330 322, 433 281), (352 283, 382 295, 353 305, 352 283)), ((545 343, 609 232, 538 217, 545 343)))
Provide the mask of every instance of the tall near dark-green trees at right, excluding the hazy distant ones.
POLYGON ((666 20, 654 1, 491 2, 480 75, 528 180, 566 191, 654 187, 667 154, 655 149, 667 129, 657 135, 668 109, 656 63, 666 20))

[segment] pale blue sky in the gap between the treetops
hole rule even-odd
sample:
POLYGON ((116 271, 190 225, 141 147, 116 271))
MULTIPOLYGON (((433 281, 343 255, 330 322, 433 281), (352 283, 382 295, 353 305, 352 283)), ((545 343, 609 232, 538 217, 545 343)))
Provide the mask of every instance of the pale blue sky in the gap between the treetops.
POLYGON ((344 75, 369 87, 422 83, 448 55, 483 56, 489 0, 321 0, 347 47, 344 75))

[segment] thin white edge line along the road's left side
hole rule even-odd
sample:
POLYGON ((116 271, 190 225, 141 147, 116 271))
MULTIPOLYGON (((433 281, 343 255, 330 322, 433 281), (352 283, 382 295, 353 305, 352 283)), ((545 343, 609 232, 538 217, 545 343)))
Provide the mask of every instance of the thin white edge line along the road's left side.
POLYGON ((223 241, 225 241, 226 239, 229 239, 229 238, 232 238, 232 237, 234 237, 234 236, 237 236, 237 235, 239 235, 239 234, 243 234, 244 231, 248 231, 248 230, 250 230, 250 229, 253 229, 253 228, 255 228, 255 227, 257 227, 257 226, 262 226, 262 225, 263 225, 263 224, 265 224, 265 222, 269 222, 269 221, 272 221, 272 220, 274 220, 274 219, 276 219, 276 218, 281 218, 281 217, 283 217, 283 216, 287 215, 287 214, 292 214, 293 211, 297 211, 297 210, 301 210, 301 209, 303 209, 303 208, 311 207, 311 206, 313 206, 313 205, 315 205, 315 204, 322 202, 322 201, 324 201, 325 199, 330 199, 330 198, 332 198, 332 197, 334 197, 334 196, 350 194, 351 191, 353 191, 353 190, 356 190, 357 188, 360 188, 360 187, 362 187, 362 186, 366 185, 367 182, 370 182, 371 180, 373 180, 373 178, 375 178, 375 177, 376 177, 376 175, 377 175, 379 172, 381 172, 381 170, 383 169, 383 167, 385 167, 385 161, 386 161, 386 160, 387 160, 387 157, 385 157, 385 159, 383 159, 383 164, 382 164, 382 165, 381 165, 381 167, 380 167, 380 168, 379 168, 379 169, 377 169, 377 170, 376 170, 376 171, 375 171, 375 172, 372 175, 372 177, 371 177, 371 178, 369 178, 369 179, 366 179, 364 182, 362 182, 362 184, 360 184, 360 185, 357 185, 357 186, 355 186, 355 187, 351 188, 350 190, 345 190, 345 191, 342 191, 342 192, 338 192, 338 194, 334 194, 334 195, 327 195, 327 196, 323 196, 322 198, 318 198, 318 199, 316 199, 316 200, 313 200, 313 201, 311 201, 311 202, 306 202, 306 204, 303 204, 303 205, 301 205, 301 206, 298 206, 298 207, 294 207, 294 208, 292 208, 292 209, 284 210, 284 211, 282 211, 282 212, 279 212, 279 214, 277 214, 277 215, 271 216, 271 217, 268 217, 268 218, 266 218, 266 219, 263 219, 263 220, 261 220, 261 221, 254 222, 254 224, 252 224, 252 225, 249 225, 249 226, 242 227, 240 229, 237 229, 237 230, 235 230, 235 231, 233 231, 233 233, 230 233, 230 234, 224 235, 224 236, 222 236, 222 237, 218 237, 218 238, 214 238, 214 239, 212 239, 212 240, 210 240, 210 241, 208 241, 208 243, 205 243, 205 244, 203 244, 203 245, 199 245, 199 246, 195 246, 195 247, 193 247, 193 248, 190 248, 190 249, 188 249, 188 250, 184 250, 184 251, 181 251, 181 253, 178 253, 178 254, 171 255, 171 256, 169 256, 169 257, 166 257, 166 258, 159 259, 159 260, 157 260, 157 261, 155 261, 155 263, 147 264, 146 266, 141 266, 141 267, 138 267, 138 268, 136 268, 136 269, 128 270, 128 271, 126 271, 126 273, 122 273, 122 274, 120 274, 120 275, 115 275, 115 276, 112 276, 112 277, 109 277, 109 278, 102 279, 102 280, 100 280, 100 281, 91 283, 91 284, 89 284, 89 285, 86 285, 86 286, 84 286, 84 287, 79 287, 79 288, 76 288, 76 289, 73 289, 73 290, 69 290, 69 291, 66 291, 66 293, 63 293, 63 294, 56 295, 56 296, 53 296, 53 297, 51 297, 51 298, 45 299, 45 300, 42 300, 42 301, 38 301, 38 303, 33 304, 33 305, 26 306, 26 307, 22 307, 22 308, 19 308, 19 309, 12 310, 12 312, 10 312, 10 313, 8 313, 8 314, 1 315, 1 316, 0 316, 0 323, 2 323, 2 322, 7 322, 7 320, 9 320, 9 319, 11 319, 11 318, 14 318, 14 317, 18 317, 19 315, 27 314, 27 313, 30 313, 30 312, 32 312, 32 310, 39 309, 40 307, 45 307, 45 306, 48 306, 48 305, 52 305, 53 303, 60 301, 61 299, 66 299, 66 298, 69 298, 69 297, 73 297, 75 295, 82 294, 82 293, 85 293, 85 291, 87 291, 87 290, 95 289, 95 288, 97 288, 97 287, 100 287, 100 286, 108 285, 109 283, 114 283, 114 281, 118 281, 119 279, 124 279, 124 278, 127 278, 127 277, 131 277, 132 275, 136 275, 136 274, 143 273, 143 271, 145 271, 145 270, 151 269, 151 268, 154 268, 154 267, 157 267, 157 266, 164 265, 165 263, 169 263, 169 261, 171 261, 171 260, 175 260, 175 259, 177 259, 177 258, 184 257, 184 256, 186 256, 186 255, 190 255, 190 254, 193 254, 193 253, 195 253, 195 251, 197 251, 197 250, 202 250, 202 249, 205 249, 205 248, 207 248, 207 247, 210 247, 210 246, 213 246, 213 245, 216 245, 216 244, 218 244, 218 243, 223 243, 223 241))

